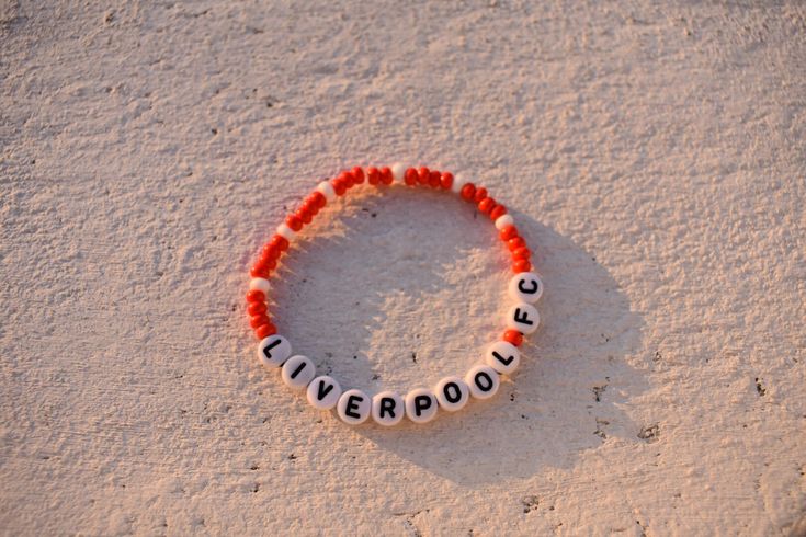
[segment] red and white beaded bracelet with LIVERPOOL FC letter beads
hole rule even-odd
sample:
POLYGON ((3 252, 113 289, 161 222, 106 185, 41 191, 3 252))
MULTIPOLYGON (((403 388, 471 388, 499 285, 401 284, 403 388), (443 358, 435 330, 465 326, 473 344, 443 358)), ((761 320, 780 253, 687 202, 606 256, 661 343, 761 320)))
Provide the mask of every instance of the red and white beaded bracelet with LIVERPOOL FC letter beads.
POLYGON ((363 423, 371 415, 376 423, 390 426, 400 423, 404 415, 415 423, 429 422, 436 415, 438 408, 455 412, 470 397, 489 399, 495 396, 500 385, 499 375, 510 376, 518 368, 521 359, 518 347, 523 342, 523 336, 537 330, 540 316, 533 305, 543 295, 543 283, 537 274, 531 272, 531 253, 526 241, 519 235, 512 216, 507 214, 507 208, 488 196, 486 188, 477 187, 459 178, 454 179, 450 172, 429 170, 425 167, 407 169, 399 163, 391 168, 355 167, 343 171, 336 179, 319 183, 299 208, 277 227, 276 235, 263 247, 260 259, 251 268, 247 311, 250 325, 260 340, 258 358, 266 369, 281 367, 283 381, 292 389, 306 390, 307 399, 314 408, 336 408, 339 418, 350 425, 363 423), (310 358, 303 355, 292 356, 291 343, 277 333, 271 322, 266 312, 269 276, 276 268, 283 252, 319 210, 364 181, 378 187, 401 183, 412 187, 452 191, 488 215, 499 230, 501 240, 507 243, 515 273, 509 283, 509 294, 515 304, 507 312, 507 330, 501 340, 487 349, 485 363, 472 367, 464 378, 445 377, 433 389, 416 388, 405 397, 393 391, 382 391, 372 398, 357 389, 342 391, 336 379, 327 375, 316 375, 316 366, 310 358))

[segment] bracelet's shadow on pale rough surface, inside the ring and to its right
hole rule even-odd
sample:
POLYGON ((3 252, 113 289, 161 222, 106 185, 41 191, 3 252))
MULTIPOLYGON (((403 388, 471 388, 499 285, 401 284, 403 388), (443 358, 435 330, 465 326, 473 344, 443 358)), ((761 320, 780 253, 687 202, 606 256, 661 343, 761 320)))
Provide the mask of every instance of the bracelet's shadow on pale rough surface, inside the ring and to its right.
MULTIPOLYGON (((443 193, 397 186, 348 198, 281 268, 271 309, 282 331, 342 388, 405 393, 463 376, 503 330, 509 256, 487 217, 445 203, 443 193)), ((648 387, 628 362, 642 317, 583 249, 513 216, 546 285, 542 327, 522 346, 514 378, 503 377, 495 398, 424 425, 353 430, 466 487, 571 467, 612 436, 642 442, 624 411, 648 387)))

